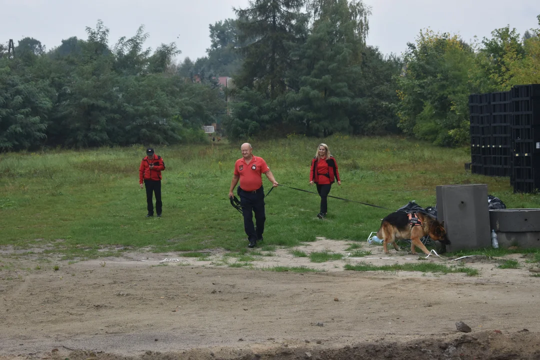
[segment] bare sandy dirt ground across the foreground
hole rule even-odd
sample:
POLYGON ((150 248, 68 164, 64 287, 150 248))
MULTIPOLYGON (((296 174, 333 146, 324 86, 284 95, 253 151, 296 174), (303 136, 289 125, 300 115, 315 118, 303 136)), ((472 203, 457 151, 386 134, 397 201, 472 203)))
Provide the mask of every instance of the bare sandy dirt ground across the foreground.
POLYGON ((251 268, 231 267, 236 259, 219 250, 205 261, 130 252, 73 263, 3 248, 0 359, 540 358, 540 277, 524 255, 506 258, 519 269, 463 259, 479 276, 361 272, 343 267, 460 261, 368 243, 360 250, 372 255, 351 257, 349 246, 319 239, 296 249, 345 257, 313 263, 279 249, 251 268), (275 266, 324 271, 268 271, 275 266))

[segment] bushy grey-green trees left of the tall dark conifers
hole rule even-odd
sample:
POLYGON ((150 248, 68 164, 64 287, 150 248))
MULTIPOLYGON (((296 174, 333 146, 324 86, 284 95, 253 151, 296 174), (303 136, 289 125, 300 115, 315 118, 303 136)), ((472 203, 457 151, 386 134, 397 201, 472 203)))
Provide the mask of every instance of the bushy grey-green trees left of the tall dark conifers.
POLYGON ((51 51, 32 38, 0 49, 0 150, 200 141, 224 116, 220 89, 171 66, 175 44, 152 53, 141 26, 110 47, 102 22, 86 30, 51 51))

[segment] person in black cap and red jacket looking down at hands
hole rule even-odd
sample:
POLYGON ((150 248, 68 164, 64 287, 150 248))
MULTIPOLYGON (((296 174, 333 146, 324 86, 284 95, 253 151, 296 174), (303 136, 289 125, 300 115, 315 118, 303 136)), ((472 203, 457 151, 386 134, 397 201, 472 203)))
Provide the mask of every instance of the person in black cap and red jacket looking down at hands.
POLYGON ((161 172, 165 170, 165 162, 160 156, 154 154, 154 149, 146 149, 146 156, 139 166, 139 185, 146 187, 146 204, 148 208, 147 218, 154 216, 154 204, 152 201, 152 192, 156 194, 156 213, 161 217, 161 172))

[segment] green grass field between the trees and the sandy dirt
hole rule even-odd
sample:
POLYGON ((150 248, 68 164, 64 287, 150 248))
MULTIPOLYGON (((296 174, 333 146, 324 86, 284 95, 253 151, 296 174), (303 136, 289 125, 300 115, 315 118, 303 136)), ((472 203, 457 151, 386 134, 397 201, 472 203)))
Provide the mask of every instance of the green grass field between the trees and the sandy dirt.
MULTIPOLYGON (((315 192, 309 165, 320 139, 291 135, 252 144, 276 180, 315 192)), ((341 187, 330 195, 397 209, 410 200, 435 205, 435 187, 488 184, 509 208, 539 207, 538 194, 514 194, 509 178, 464 170, 469 148, 440 148, 400 137, 349 138, 322 142, 338 161, 341 187)), ((227 198, 240 144, 161 147, 164 158, 163 218, 146 219, 138 167, 144 148, 6 153, 0 155, 0 245, 46 247, 65 259, 111 255, 149 247, 155 252, 225 248, 245 252, 242 216, 227 198), (124 250, 118 250, 124 249, 124 250)), ((266 192, 271 184, 264 176, 266 192)), ((266 199, 264 251, 330 239, 365 241, 388 210, 329 199, 321 221, 319 197, 278 187, 266 199)), ((261 250, 259 248, 259 250, 261 250)))

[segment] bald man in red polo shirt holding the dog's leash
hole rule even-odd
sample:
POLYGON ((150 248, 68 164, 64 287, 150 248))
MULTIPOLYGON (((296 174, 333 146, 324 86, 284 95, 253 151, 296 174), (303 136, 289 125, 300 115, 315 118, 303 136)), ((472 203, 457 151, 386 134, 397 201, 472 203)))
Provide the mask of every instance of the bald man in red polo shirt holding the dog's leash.
POLYGON ((229 189, 229 197, 234 196, 233 190, 240 180, 237 193, 240 196, 240 206, 244 215, 244 230, 249 241, 248 247, 253 248, 257 240, 262 240, 265 230, 265 193, 262 187, 262 175, 265 174, 272 186, 278 186, 274 175, 263 158, 253 155, 253 147, 245 142, 240 147, 242 158, 234 164, 234 175, 229 189), (255 225, 253 225, 255 213, 255 225))

